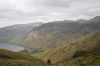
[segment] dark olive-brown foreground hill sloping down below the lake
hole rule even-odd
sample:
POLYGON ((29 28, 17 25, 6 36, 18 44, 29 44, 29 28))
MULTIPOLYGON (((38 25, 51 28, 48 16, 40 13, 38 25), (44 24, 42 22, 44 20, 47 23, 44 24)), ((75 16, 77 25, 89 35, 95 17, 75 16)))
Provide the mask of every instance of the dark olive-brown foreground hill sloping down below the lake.
POLYGON ((0 66, 44 66, 43 61, 33 56, 0 49, 0 66))

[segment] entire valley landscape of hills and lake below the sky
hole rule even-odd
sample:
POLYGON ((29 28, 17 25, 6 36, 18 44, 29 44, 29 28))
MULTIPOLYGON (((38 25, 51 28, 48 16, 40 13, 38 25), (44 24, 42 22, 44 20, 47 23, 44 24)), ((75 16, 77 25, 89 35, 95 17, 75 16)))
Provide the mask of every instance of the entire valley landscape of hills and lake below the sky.
POLYGON ((15 27, 0 29, 0 66, 100 66, 100 16, 15 27))

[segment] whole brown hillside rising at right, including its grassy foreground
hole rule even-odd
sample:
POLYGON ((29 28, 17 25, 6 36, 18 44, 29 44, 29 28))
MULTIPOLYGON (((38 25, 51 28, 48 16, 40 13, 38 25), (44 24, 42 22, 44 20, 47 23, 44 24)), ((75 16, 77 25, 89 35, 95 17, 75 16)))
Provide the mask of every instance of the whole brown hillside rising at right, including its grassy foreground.
POLYGON ((66 62, 65 64, 70 62, 75 64, 75 61, 76 63, 84 63, 85 61, 86 63, 88 63, 89 61, 91 61, 91 63, 95 63, 95 61, 97 63, 100 63, 100 31, 89 34, 70 43, 66 43, 63 46, 50 51, 49 53, 44 55, 42 59, 45 62, 50 61, 53 64, 57 62, 63 63, 63 61, 66 62), (71 61, 69 62, 69 60, 71 61))

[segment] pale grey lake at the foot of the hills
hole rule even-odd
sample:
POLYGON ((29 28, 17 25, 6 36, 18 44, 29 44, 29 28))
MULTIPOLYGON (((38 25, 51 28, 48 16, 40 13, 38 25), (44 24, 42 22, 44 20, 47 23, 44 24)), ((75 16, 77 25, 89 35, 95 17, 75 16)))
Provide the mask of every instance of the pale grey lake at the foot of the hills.
POLYGON ((20 47, 18 45, 14 45, 14 44, 9 44, 9 43, 0 43, 0 48, 10 50, 10 51, 15 51, 15 52, 24 50, 23 47, 20 47))

